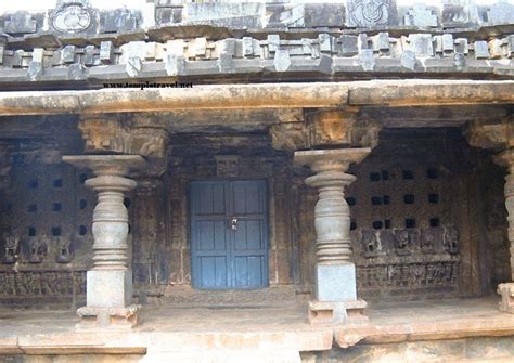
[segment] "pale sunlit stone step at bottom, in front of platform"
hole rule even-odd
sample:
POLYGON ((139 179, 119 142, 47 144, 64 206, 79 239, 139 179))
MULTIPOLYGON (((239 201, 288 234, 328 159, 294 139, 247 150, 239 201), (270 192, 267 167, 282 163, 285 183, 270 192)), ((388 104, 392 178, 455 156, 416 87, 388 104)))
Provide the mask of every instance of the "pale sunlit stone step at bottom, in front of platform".
POLYGON ((204 351, 152 351, 141 363, 300 363, 297 350, 204 350, 204 351))

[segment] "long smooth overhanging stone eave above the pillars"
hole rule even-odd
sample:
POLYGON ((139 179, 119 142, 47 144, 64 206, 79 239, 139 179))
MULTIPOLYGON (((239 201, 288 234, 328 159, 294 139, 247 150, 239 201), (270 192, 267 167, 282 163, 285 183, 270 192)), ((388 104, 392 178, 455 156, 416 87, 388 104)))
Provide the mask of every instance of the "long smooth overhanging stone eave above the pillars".
POLYGON ((514 103, 514 80, 369 80, 0 92, 0 116, 514 103))

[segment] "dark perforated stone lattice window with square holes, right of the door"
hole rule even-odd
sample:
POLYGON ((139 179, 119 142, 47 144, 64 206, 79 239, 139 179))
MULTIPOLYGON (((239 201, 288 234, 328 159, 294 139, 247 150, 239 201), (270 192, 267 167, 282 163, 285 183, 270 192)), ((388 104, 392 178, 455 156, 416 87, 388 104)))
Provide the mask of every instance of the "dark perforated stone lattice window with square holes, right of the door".
POLYGON ((446 179, 441 178, 439 166, 385 164, 376 168, 363 161, 356 170, 357 182, 346 193, 355 225, 376 230, 444 223, 439 219, 448 206, 441 204, 440 192, 446 179))

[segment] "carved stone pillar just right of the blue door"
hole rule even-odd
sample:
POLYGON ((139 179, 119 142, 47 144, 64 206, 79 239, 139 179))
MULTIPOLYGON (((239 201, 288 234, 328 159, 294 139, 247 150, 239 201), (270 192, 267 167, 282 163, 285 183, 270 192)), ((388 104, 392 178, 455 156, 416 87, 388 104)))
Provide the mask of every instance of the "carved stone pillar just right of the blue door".
POLYGON ((350 241, 350 210, 344 190, 356 180, 345 171, 361 161, 371 148, 317 150, 295 153, 295 164, 316 172, 306 179, 318 189, 314 209, 317 234, 316 289, 310 302, 311 323, 336 324, 363 317, 364 301, 357 300, 356 268, 350 241))

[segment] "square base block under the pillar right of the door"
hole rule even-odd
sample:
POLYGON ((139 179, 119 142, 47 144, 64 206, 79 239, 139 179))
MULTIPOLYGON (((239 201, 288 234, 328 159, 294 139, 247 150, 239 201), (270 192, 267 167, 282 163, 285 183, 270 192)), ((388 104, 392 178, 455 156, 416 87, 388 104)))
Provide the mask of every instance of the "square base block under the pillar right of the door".
POLYGON ((309 301, 309 322, 311 325, 364 324, 368 303, 364 300, 354 301, 309 301))

